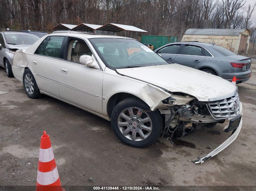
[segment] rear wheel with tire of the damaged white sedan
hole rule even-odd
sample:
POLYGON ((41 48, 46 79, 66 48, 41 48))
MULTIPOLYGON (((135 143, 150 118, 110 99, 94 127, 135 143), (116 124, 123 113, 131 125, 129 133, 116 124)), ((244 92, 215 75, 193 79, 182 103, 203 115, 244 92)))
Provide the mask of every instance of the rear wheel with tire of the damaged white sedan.
POLYGON ((40 97, 41 93, 36 84, 35 78, 30 69, 25 69, 23 73, 23 87, 29 98, 36 99, 40 97))

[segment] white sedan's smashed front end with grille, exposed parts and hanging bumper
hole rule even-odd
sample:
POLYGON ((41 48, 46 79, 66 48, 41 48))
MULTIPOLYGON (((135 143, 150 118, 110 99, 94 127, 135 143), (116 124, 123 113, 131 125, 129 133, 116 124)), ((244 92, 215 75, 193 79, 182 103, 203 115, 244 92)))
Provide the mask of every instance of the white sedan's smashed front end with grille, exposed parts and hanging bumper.
POLYGON ((202 163, 218 154, 230 145, 242 126, 242 104, 239 100, 237 90, 225 97, 209 99, 208 102, 198 101, 196 97, 181 92, 172 92, 171 96, 162 102, 168 107, 159 108, 161 114, 165 115, 165 127, 162 134, 167 133, 171 143, 174 139, 191 134, 194 130, 202 127, 212 128, 217 123, 229 120, 224 128, 225 132, 232 135, 212 152, 192 160, 194 163, 202 163))

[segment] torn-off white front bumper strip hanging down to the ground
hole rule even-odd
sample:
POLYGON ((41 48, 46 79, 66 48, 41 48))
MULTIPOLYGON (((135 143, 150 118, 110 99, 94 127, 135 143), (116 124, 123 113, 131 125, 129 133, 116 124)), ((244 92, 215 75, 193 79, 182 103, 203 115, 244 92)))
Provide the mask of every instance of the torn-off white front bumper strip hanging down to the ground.
MULTIPOLYGON (((242 103, 240 102, 241 105, 241 111, 240 111, 240 115, 243 115, 243 106, 242 103)), ((224 141, 220 146, 218 146, 217 148, 215 148, 213 151, 211 151, 208 154, 205 154, 201 157, 195 158, 192 160, 192 162, 196 163, 196 164, 202 164, 204 161, 212 158, 213 156, 215 156, 216 154, 218 154, 219 152, 223 151, 225 148, 227 148, 232 142, 234 142, 234 140, 237 138, 241 128, 242 128, 242 123, 243 123, 243 119, 241 119, 238 128, 235 130, 235 132, 226 140, 224 141)), ((226 128, 226 127, 225 127, 226 128)), ((224 128, 224 129, 225 129, 224 128)))

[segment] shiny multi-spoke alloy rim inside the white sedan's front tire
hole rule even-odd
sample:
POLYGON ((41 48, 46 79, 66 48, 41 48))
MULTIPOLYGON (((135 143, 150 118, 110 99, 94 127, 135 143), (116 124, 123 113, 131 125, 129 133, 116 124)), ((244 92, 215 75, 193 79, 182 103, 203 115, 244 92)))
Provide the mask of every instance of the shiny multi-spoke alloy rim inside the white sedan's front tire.
POLYGON ((124 109, 119 114, 117 123, 122 135, 132 141, 143 141, 152 132, 150 116, 138 107, 124 109))

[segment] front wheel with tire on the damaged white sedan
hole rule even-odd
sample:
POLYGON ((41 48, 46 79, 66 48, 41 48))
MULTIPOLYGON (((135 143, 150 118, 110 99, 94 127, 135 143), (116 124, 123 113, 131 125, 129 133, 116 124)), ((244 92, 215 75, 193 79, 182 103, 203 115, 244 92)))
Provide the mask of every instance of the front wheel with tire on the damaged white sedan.
POLYGON ((115 106, 111 126, 125 144, 146 147, 160 136, 163 122, 158 110, 151 111, 146 103, 137 98, 127 98, 115 106))

